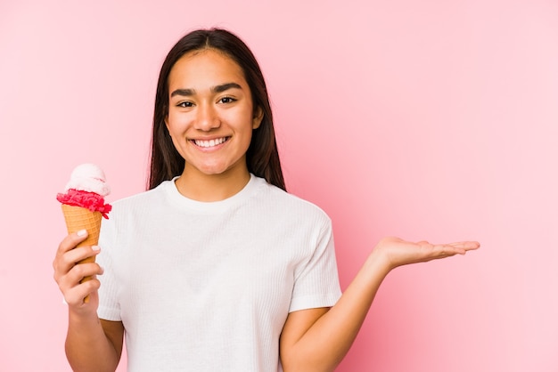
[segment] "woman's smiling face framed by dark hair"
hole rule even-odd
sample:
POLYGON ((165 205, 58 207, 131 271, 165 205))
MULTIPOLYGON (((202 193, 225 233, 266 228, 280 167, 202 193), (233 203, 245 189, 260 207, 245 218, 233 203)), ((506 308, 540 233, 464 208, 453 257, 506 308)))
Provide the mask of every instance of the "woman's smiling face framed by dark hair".
POLYGON ((165 123, 185 158, 185 175, 245 176, 252 130, 262 117, 242 69, 225 54, 187 53, 171 69, 165 123))

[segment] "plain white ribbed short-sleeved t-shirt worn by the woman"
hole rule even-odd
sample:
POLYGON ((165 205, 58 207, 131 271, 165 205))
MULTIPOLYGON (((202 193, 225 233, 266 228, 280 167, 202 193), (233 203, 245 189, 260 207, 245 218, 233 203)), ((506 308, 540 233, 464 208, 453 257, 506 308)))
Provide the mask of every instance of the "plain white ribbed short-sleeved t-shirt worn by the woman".
POLYGON ((329 217, 254 175, 217 202, 173 181, 119 200, 99 246, 99 317, 123 322, 131 372, 280 371, 288 313, 341 295, 329 217))

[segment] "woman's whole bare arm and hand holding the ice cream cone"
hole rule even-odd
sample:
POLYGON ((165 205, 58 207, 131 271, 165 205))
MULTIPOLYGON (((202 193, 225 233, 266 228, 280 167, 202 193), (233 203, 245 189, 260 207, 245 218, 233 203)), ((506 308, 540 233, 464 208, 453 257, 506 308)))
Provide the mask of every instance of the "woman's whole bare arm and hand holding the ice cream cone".
POLYGON ((68 303, 68 335, 66 356, 76 372, 113 372, 120 360, 124 327, 119 321, 97 317, 100 282, 103 274, 97 263, 80 263, 86 257, 98 255, 98 247, 78 247, 86 234, 73 233, 62 240, 54 258, 54 279, 68 303), (93 279, 79 283, 86 276, 93 279), (89 301, 84 299, 89 296, 89 301))

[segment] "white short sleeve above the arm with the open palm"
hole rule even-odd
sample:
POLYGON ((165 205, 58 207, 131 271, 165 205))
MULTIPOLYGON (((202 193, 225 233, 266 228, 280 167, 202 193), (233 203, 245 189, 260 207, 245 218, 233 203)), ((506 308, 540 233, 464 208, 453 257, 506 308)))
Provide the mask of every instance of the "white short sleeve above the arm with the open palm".
POLYGON ((328 218, 319 231, 313 254, 307 263, 295 271, 289 312, 331 307, 340 297, 332 223, 328 218))

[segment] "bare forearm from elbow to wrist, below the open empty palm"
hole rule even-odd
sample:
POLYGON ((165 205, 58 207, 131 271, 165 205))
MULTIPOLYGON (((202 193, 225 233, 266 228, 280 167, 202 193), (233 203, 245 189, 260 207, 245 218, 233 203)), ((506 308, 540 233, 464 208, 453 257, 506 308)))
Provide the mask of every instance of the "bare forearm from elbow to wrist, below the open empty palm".
POLYGON ((337 367, 355 341, 389 271, 381 255, 370 255, 340 300, 292 347, 290 368, 285 372, 324 372, 337 367))

